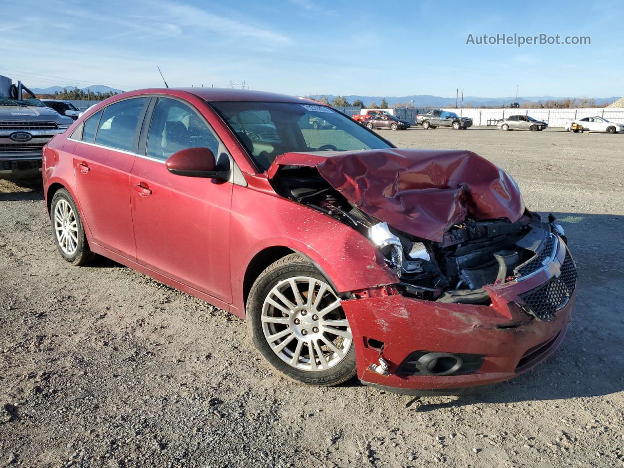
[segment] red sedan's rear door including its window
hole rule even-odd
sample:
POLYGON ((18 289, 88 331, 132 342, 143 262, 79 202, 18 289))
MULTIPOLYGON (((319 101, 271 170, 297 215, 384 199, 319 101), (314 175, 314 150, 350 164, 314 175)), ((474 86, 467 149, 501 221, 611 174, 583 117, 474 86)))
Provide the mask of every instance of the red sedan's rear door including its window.
POLYGON ((76 194, 92 240, 131 260, 136 246, 130 170, 148 101, 147 97, 117 101, 85 120, 80 135, 72 133, 72 139, 79 140, 73 155, 76 194))

